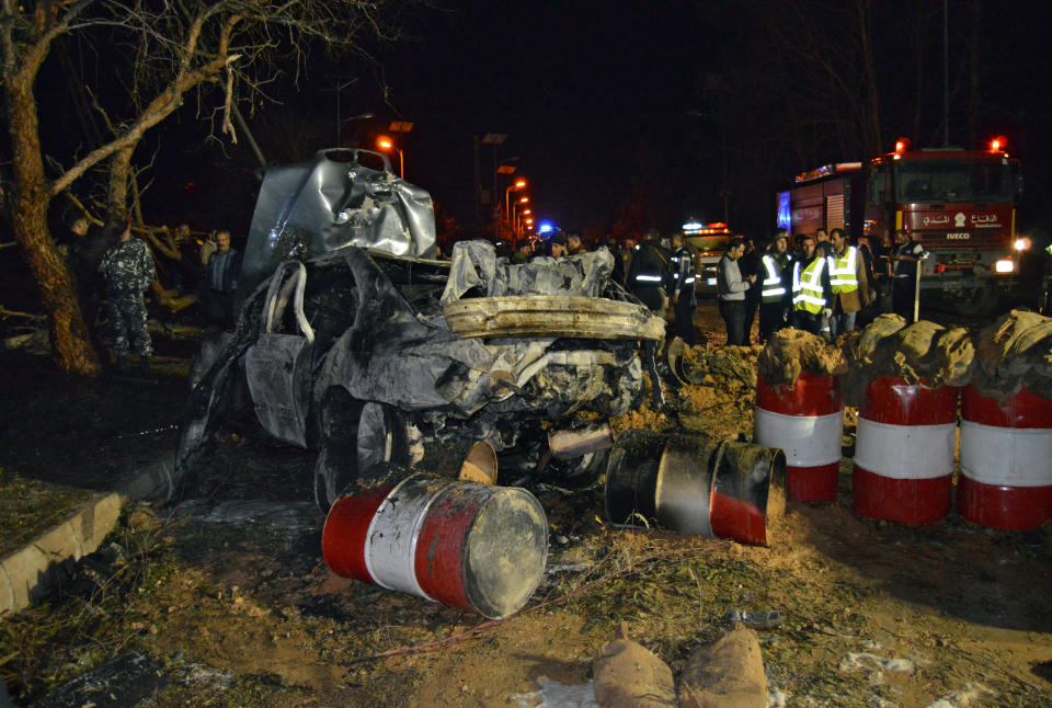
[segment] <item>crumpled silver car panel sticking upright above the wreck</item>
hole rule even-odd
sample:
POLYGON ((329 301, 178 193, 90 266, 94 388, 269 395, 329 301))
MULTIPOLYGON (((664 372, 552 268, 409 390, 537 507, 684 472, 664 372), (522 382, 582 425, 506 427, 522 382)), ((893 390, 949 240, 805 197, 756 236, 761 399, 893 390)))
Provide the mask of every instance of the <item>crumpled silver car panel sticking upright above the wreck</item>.
POLYGON ((369 150, 322 150, 308 162, 271 168, 263 178, 241 264, 238 302, 284 261, 345 245, 435 256, 431 195, 389 170, 358 162, 369 150))

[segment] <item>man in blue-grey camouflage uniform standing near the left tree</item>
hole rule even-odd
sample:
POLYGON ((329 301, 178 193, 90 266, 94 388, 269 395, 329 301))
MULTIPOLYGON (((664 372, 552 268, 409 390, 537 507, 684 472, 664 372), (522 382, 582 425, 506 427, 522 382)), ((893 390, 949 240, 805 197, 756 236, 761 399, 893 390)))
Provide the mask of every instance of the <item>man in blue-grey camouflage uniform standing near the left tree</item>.
POLYGON ((153 281, 153 256, 139 239, 132 238, 128 222, 107 227, 119 232, 119 240, 108 250, 99 264, 99 272, 106 281, 107 313, 113 354, 117 368, 128 367, 128 341, 139 355, 139 368, 150 370, 153 345, 146 329, 146 302, 142 294, 153 281))

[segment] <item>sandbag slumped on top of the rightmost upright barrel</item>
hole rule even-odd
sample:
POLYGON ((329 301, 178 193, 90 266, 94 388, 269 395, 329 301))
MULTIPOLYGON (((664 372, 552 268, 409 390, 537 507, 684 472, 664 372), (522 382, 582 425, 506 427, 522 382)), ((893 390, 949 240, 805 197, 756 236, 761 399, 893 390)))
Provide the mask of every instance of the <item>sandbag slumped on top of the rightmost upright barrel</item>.
POLYGON ((983 396, 1007 399, 1021 386, 1052 399, 1052 319, 1011 310, 979 333, 972 385, 983 396))

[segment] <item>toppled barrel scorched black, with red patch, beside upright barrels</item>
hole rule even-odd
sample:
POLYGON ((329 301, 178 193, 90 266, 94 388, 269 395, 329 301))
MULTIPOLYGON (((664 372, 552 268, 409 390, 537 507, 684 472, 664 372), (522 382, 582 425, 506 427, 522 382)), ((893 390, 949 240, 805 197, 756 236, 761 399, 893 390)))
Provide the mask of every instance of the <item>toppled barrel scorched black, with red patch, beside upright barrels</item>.
POLYGON ((773 478, 785 479, 786 455, 752 443, 705 435, 633 432, 610 454, 606 513, 616 524, 640 516, 682 534, 767 545, 773 478))

